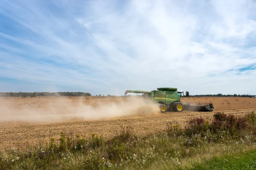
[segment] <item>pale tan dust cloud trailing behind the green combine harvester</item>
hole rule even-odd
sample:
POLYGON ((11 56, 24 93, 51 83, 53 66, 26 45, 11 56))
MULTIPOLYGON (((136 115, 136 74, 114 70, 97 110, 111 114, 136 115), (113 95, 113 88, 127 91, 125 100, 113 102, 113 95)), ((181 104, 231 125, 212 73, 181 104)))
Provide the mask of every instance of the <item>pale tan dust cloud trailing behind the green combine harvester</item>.
POLYGON ((154 114, 159 108, 141 97, 36 97, 0 99, 0 122, 58 122, 154 114))

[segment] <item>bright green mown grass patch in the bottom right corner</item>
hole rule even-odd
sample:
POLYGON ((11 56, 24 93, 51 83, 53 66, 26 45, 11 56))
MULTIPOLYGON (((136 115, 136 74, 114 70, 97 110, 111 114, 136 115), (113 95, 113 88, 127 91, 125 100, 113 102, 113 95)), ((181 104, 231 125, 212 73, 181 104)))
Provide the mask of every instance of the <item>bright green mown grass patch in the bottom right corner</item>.
POLYGON ((256 170, 256 150, 214 157, 187 170, 256 170))

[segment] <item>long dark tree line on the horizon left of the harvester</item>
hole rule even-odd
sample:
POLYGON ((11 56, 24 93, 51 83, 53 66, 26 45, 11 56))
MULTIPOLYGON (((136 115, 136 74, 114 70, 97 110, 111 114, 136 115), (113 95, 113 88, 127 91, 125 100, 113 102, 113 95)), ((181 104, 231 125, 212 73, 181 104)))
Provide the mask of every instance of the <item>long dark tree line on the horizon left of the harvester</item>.
POLYGON ((0 92, 0 97, 50 97, 50 96, 91 96, 90 93, 84 93, 84 92, 0 92))

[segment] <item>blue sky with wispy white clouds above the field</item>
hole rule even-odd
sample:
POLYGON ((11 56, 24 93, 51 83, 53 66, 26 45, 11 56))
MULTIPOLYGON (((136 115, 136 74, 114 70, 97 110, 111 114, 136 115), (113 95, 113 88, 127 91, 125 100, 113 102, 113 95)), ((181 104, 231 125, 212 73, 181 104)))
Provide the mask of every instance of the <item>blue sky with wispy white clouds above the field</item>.
POLYGON ((0 91, 256 94, 256 1, 1 0, 0 91))

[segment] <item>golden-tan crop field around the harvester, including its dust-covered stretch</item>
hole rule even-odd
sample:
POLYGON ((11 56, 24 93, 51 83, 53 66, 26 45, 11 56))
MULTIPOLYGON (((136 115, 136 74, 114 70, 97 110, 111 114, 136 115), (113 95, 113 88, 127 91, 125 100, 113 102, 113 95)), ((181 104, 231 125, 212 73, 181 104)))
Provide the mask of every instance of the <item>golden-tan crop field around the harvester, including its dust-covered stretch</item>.
MULTIPOLYGON (((256 111, 256 98, 195 97, 183 102, 212 102, 216 111, 243 115, 256 111)), ((181 125, 193 116, 211 119, 215 112, 159 113, 157 106, 140 97, 40 97, 0 99, 0 149, 25 149, 39 142, 58 138, 61 132, 105 137, 114 135, 121 125, 130 125, 145 135, 166 127, 181 125)))

